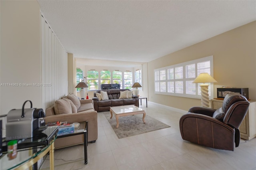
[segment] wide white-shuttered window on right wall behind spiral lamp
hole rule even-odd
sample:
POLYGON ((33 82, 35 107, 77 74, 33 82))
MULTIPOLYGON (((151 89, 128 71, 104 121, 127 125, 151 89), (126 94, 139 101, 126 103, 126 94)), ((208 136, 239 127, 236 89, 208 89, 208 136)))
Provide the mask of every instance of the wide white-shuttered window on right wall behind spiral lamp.
MULTIPOLYGON (((213 75, 213 56, 154 70, 155 93, 180 97, 201 98, 202 83, 192 83, 200 73, 213 75)), ((208 87, 209 98, 213 88, 208 87)))

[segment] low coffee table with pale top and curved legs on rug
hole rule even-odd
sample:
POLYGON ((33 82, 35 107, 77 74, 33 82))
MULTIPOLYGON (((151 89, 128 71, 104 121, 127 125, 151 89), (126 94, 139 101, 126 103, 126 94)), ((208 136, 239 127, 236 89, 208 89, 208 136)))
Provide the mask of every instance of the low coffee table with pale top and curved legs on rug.
POLYGON ((146 112, 142 108, 139 108, 134 105, 110 107, 110 114, 111 114, 110 119, 112 118, 113 114, 116 116, 116 128, 119 127, 118 118, 122 116, 143 114, 142 121, 146 123, 145 122, 146 112))

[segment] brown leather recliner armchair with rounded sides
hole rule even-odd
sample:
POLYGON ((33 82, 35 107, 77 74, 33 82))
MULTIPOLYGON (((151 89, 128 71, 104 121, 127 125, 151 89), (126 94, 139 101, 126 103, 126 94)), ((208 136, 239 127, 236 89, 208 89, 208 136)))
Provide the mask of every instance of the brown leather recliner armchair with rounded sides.
POLYGON ((182 139, 203 146, 234 150, 240 141, 238 127, 249 108, 246 97, 229 93, 220 109, 192 107, 180 118, 182 139))

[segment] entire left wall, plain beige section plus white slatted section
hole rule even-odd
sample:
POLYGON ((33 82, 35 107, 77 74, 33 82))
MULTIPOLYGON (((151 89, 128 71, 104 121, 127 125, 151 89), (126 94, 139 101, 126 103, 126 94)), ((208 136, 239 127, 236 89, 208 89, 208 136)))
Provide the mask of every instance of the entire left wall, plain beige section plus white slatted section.
POLYGON ((0 3, 0 115, 21 109, 26 100, 45 111, 68 92, 67 53, 49 26, 41 24, 36 0, 0 3), (44 83, 52 85, 33 85, 44 83))

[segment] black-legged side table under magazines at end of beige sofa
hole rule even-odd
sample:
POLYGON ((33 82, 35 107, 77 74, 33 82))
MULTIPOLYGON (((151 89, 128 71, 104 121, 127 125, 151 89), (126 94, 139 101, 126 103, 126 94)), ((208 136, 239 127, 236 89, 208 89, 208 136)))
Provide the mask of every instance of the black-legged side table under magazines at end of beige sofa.
POLYGON ((87 158, 88 133, 87 133, 87 131, 88 131, 88 121, 80 123, 79 127, 75 128, 74 133, 57 136, 57 139, 58 139, 58 138, 65 138, 68 136, 75 136, 78 134, 84 134, 84 164, 88 163, 88 158, 87 158))

